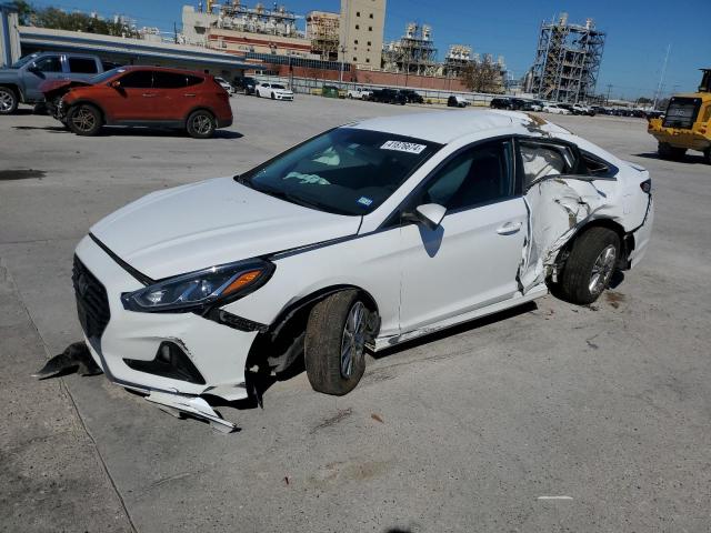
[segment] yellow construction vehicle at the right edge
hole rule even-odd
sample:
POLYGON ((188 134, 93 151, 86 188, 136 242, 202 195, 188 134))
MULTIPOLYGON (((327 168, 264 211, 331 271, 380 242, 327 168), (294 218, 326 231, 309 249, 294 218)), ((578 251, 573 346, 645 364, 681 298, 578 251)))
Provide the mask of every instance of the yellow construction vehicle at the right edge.
POLYGON ((662 159, 679 160, 687 150, 698 150, 711 164, 711 69, 701 71, 698 92, 673 95, 667 113, 649 121, 647 131, 659 141, 662 159))

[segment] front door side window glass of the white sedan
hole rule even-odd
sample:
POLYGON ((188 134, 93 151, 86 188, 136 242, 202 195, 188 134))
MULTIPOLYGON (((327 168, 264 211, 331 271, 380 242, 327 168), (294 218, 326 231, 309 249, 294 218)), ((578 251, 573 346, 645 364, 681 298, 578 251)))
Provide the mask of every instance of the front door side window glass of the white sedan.
POLYGON ((488 142, 461 152, 430 179, 419 203, 439 203, 449 211, 512 197, 512 152, 511 141, 488 142))

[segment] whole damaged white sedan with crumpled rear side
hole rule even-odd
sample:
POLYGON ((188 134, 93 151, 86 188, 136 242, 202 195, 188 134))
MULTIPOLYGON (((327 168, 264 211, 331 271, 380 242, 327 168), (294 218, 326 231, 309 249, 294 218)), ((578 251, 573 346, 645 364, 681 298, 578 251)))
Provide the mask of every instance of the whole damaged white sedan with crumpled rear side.
POLYGON ((651 227, 641 167, 524 113, 422 113, 149 194, 91 228, 73 284, 111 381, 229 428, 204 395, 244 399, 254 372, 303 356, 313 389, 346 394, 365 350, 552 286, 591 303, 651 227))

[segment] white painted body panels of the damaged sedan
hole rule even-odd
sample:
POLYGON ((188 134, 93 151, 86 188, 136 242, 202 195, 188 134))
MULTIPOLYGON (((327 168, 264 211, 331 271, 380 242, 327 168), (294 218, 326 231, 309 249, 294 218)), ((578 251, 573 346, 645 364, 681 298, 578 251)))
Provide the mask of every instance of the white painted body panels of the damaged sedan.
MULTIPOLYGON (((371 348, 380 350, 547 294, 558 251, 591 220, 607 219, 633 237, 632 266, 647 250, 653 210, 640 183, 649 173, 563 128, 513 111, 440 111, 348 128, 414 137, 442 148, 363 217, 309 209, 220 178, 149 194, 91 228, 93 239, 79 243, 77 257, 106 288, 110 320, 100 342, 87 343, 111 381, 157 391, 153 399, 178 410, 182 395, 242 399, 248 395, 247 358, 259 334, 191 312, 126 310, 121 295, 144 286, 130 269, 159 280, 270 257, 276 265, 271 279, 223 311, 268 326, 319 291, 354 286, 378 306, 381 325, 371 348), (450 155, 502 135, 572 143, 618 173, 614 179, 544 179, 514 198, 448 212, 433 230, 414 223, 383 225, 450 155), (204 384, 126 363, 153 360, 163 341, 184 348, 204 384), (177 395, 176 401, 164 394, 177 395)), ((190 406, 196 415, 201 408, 190 406)), ((204 409, 203 415, 211 420, 204 409)))

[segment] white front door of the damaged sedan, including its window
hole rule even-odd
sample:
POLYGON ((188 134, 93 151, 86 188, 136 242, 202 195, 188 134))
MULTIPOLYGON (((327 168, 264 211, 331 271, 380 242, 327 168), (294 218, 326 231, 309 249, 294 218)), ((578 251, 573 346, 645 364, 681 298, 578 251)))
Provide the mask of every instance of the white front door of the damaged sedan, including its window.
POLYGON ((528 217, 517 189, 507 139, 460 151, 413 195, 407 209, 438 203, 447 214, 434 230, 401 228, 402 333, 515 294, 528 217))

